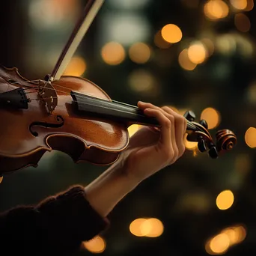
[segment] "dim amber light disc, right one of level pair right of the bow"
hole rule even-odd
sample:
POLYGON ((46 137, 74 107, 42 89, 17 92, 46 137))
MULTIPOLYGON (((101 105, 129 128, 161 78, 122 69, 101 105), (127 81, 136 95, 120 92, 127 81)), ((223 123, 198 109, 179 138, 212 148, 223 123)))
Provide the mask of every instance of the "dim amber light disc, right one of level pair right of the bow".
POLYGON ((129 48, 129 58, 138 64, 144 64, 150 59, 151 50, 146 43, 134 43, 129 48))

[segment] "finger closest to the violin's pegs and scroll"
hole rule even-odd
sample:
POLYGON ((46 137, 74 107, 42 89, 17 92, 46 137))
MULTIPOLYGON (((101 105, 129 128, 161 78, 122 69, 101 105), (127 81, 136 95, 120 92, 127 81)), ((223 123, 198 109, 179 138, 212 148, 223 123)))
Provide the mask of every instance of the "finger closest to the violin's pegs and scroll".
POLYGON ((176 138, 176 144, 177 144, 177 158, 183 155, 185 151, 185 144, 183 141, 184 138, 184 131, 186 131, 185 127, 185 118, 182 115, 177 114, 177 112, 174 112, 173 109, 168 108, 168 106, 162 107, 162 109, 167 112, 170 115, 173 115, 175 118, 175 138, 176 138))

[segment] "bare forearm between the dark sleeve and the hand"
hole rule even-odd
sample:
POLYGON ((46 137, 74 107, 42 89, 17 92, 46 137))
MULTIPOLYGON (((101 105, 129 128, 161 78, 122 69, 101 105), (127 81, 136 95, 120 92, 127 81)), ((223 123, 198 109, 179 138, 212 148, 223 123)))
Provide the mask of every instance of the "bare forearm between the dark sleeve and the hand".
POLYGON ((100 216, 106 217, 112 209, 140 183, 128 177, 123 165, 116 162, 92 183, 85 187, 91 206, 100 216))

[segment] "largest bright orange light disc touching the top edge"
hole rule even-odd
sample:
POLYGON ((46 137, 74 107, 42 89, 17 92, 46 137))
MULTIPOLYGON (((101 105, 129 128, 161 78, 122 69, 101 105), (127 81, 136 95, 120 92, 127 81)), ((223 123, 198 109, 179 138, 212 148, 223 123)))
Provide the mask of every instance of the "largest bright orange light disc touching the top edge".
POLYGON ((204 4, 204 14, 209 19, 223 19, 228 16, 228 4, 222 0, 210 0, 204 4))

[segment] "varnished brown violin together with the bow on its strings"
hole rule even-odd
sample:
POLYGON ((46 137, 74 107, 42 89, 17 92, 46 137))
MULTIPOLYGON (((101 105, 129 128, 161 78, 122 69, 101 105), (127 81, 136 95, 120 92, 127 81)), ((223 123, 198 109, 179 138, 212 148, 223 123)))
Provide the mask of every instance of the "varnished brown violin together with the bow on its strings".
MULTIPOLYGON (((76 24, 50 75, 28 80, 17 68, 0 67, 0 174, 37 166, 46 151, 67 153, 74 162, 109 165, 129 144, 131 124, 159 127, 141 109, 112 100, 94 82, 62 76, 103 0, 91 0, 76 24)), ((214 143, 207 122, 187 119, 187 140, 216 159, 237 143, 229 129, 216 132, 214 143)), ((0 175, 1 176, 1 175, 0 175)))

